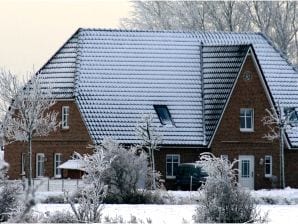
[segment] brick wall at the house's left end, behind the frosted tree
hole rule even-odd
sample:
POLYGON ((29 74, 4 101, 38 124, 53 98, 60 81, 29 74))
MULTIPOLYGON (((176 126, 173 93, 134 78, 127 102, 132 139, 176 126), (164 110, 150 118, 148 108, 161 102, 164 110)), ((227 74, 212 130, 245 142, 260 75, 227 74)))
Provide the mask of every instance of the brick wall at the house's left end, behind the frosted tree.
MULTIPOLYGON (((91 144, 88 131, 82 121, 80 112, 74 101, 58 101, 53 110, 59 112, 58 120, 61 121, 62 106, 69 106, 69 129, 58 128, 56 132, 47 137, 35 137, 32 141, 32 168, 33 177, 36 175, 36 153, 45 154, 45 176, 54 175, 54 154, 62 153, 62 162, 67 161, 73 152, 87 153, 91 144)), ((10 164, 8 175, 10 179, 18 179, 21 174, 21 155, 27 151, 28 144, 15 142, 5 147, 5 160, 10 164)))

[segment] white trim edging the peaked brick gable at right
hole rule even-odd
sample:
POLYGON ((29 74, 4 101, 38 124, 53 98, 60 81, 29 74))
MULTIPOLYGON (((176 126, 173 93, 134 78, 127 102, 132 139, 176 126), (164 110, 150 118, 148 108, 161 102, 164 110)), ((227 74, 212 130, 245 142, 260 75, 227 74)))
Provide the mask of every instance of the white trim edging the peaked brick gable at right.
MULTIPOLYGON (((210 141, 209 141, 208 148, 211 147, 211 144, 212 144, 212 142, 213 142, 213 139, 214 139, 214 137, 215 137, 215 134, 216 134, 216 132, 217 132, 219 126, 220 126, 220 123, 221 123, 221 121, 222 121, 223 115, 224 115, 224 113, 225 113, 225 111, 226 111, 226 109, 227 109, 227 107, 228 107, 228 104, 229 104, 230 99, 231 99, 231 97, 232 97, 232 95, 233 95, 234 89, 235 89, 235 87, 236 87, 236 85, 237 85, 237 83, 238 83, 240 74, 241 74, 241 72, 242 72, 242 70, 243 70, 243 66, 244 66, 244 64, 245 64, 245 62, 246 62, 246 60, 247 60, 247 56, 248 56, 248 55, 251 56, 251 57, 253 58, 253 62, 254 62, 255 68, 256 68, 256 70, 257 70, 257 74, 259 75, 259 78, 260 78, 261 83, 262 83, 262 85, 263 85, 263 88, 264 88, 264 90, 265 90, 265 94, 266 94, 266 96, 267 96, 267 99, 268 99, 268 101, 269 101, 269 104, 270 104, 270 106, 271 106, 272 108, 274 108, 274 104, 273 104, 273 101, 272 101, 272 99, 271 99, 271 95, 270 95, 269 90, 268 90, 268 88, 267 88, 267 86, 266 86, 266 84, 265 84, 265 80, 264 80, 264 77, 263 77, 263 73, 261 72, 261 69, 260 69, 260 67, 259 67, 259 65, 258 65, 258 63, 257 63, 256 57, 255 57, 255 54, 254 54, 253 52, 254 52, 254 51, 252 50, 252 47, 249 47, 249 49, 248 49, 248 51, 247 51, 247 53, 246 53, 246 55, 245 55, 245 58, 243 59, 243 62, 242 62, 242 65, 241 65, 241 67, 240 67, 240 70, 239 70, 239 72, 238 72, 238 75, 237 75, 237 77, 236 77, 236 80, 235 80, 235 82, 234 82, 234 84, 233 84, 233 87, 232 87, 232 89, 231 89, 231 92, 230 92, 230 94, 229 94, 229 97, 228 97, 228 99, 227 99, 227 101, 226 101, 226 104, 225 104, 225 106, 224 106, 224 109, 223 109, 223 111, 222 111, 222 113, 221 113, 221 115, 220 115, 219 121, 218 121, 218 123, 217 123, 217 125, 216 125, 216 128, 215 128, 215 130, 214 130, 214 132, 213 132, 213 135, 212 135, 212 137, 211 137, 211 139, 210 139, 210 141)), ((276 111, 274 111, 274 112, 276 113, 276 111)), ((286 141, 286 142, 287 142, 287 141, 286 141)))

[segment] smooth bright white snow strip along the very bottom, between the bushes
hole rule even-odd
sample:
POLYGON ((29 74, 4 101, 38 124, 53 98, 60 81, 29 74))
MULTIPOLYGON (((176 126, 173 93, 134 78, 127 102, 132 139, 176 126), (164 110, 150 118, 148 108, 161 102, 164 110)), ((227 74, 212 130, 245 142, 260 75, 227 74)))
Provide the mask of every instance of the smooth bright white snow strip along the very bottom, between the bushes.
MULTIPOLYGON (((196 205, 105 205, 103 217, 122 216, 128 221, 131 216, 147 223, 193 223, 192 215, 196 205)), ((297 223, 298 205, 259 205, 261 213, 268 211, 269 223, 297 223)), ((68 204, 38 204, 36 212, 71 210, 68 204)))

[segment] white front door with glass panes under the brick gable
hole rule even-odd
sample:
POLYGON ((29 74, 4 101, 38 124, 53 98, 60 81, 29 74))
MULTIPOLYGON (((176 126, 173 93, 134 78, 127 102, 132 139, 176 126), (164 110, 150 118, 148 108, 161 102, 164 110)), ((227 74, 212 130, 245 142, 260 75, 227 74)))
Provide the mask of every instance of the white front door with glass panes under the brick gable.
POLYGON ((254 156, 240 155, 239 156, 239 183, 242 187, 254 189, 254 156))

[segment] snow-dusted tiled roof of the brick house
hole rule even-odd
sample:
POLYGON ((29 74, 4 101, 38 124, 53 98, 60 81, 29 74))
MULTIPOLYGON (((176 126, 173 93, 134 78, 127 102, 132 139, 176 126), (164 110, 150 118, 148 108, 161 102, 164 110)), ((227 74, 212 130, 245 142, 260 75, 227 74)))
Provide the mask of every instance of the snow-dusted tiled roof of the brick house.
MULTIPOLYGON (((75 97, 94 143, 138 142, 134 127, 152 113, 164 144, 207 145, 248 45, 273 100, 298 107, 297 72, 260 33, 79 29, 41 72, 75 97)), ((298 146, 298 131, 289 136, 298 146)))

